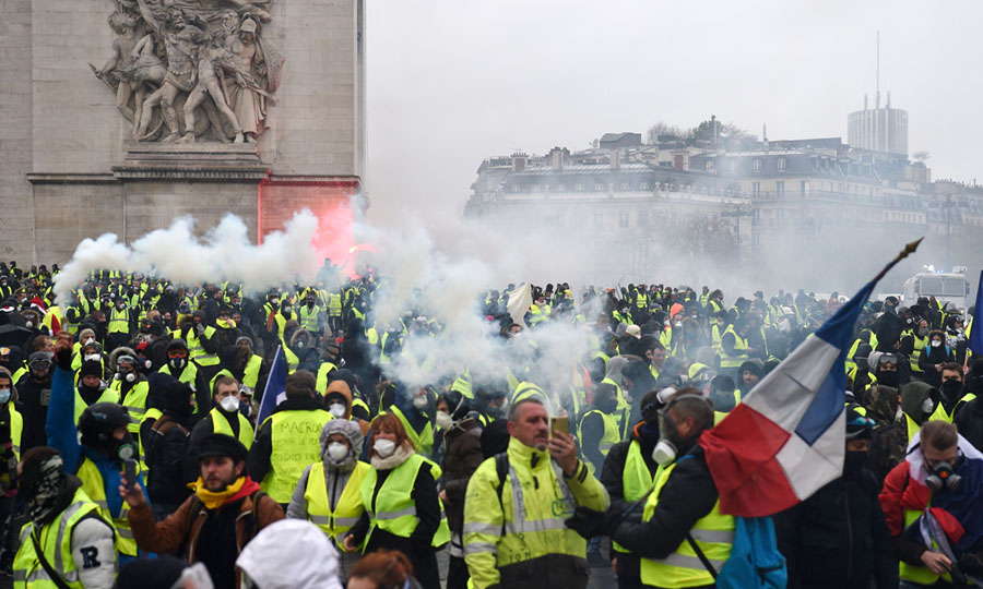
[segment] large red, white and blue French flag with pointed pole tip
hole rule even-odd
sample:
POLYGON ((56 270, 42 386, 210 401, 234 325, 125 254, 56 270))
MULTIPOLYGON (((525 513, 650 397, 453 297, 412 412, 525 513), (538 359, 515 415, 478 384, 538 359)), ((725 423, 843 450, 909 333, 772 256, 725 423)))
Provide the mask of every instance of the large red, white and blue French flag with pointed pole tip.
POLYGON ((843 472, 844 359, 877 281, 913 252, 908 244, 871 283, 772 370, 699 444, 720 510, 762 517, 792 507, 843 472))

